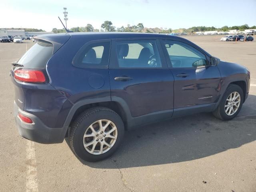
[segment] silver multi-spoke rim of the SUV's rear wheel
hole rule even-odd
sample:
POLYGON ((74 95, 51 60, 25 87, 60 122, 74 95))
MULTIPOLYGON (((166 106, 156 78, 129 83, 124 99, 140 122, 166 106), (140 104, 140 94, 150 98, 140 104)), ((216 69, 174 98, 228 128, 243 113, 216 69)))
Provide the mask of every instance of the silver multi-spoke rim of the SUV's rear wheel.
POLYGON ((116 125, 106 119, 92 123, 84 132, 84 148, 90 154, 100 155, 110 150, 117 139, 116 125))

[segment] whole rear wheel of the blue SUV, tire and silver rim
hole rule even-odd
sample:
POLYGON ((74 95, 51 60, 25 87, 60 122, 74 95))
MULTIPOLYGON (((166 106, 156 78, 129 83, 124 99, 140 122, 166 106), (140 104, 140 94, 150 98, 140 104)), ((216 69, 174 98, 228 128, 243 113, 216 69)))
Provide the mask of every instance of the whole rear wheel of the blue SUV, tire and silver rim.
POLYGON ((82 160, 96 162, 111 156, 124 136, 124 123, 109 108, 95 107, 82 113, 70 129, 70 146, 82 160))

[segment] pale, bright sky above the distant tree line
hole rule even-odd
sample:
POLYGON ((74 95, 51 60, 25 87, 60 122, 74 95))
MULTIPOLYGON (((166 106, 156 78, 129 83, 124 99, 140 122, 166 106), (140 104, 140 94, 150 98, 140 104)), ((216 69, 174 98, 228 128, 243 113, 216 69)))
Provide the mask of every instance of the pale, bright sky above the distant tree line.
POLYGON ((63 7, 68 28, 105 20, 115 27, 143 23, 147 28, 256 25, 256 0, 8 0, 0 11, 0 28, 63 28, 63 7))

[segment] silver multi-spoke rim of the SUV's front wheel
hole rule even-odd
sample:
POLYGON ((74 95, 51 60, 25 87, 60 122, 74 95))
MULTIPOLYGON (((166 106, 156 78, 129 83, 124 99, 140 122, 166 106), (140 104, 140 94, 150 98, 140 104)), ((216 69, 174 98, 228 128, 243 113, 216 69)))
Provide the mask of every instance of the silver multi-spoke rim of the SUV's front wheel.
POLYGON ((226 102, 225 102, 226 114, 228 116, 234 115, 240 106, 240 102, 241 102, 240 94, 236 91, 232 92, 228 96, 228 98, 226 99, 226 102))

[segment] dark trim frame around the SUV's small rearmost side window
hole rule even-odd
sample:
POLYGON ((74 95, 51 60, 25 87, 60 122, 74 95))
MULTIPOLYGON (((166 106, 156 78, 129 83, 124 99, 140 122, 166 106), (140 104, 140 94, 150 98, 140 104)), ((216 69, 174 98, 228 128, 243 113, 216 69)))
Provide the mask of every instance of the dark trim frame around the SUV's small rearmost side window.
MULTIPOLYGON (((84 44, 76 53, 76 55, 74 56, 74 58, 72 59, 72 66, 75 68, 79 68, 79 69, 108 69, 109 66, 109 61, 110 61, 110 50, 111 50, 111 40, 110 39, 104 39, 104 40, 93 40, 93 41, 89 41, 86 44, 84 44), (85 66, 85 67, 78 67, 76 66, 74 63, 78 60, 80 54, 82 54, 82 52, 90 45, 92 44, 96 44, 96 43, 104 43, 104 42, 109 42, 109 52, 108 52, 108 61, 107 61, 107 65, 102 65, 102 66, 85 66)), ((102 53, 102 56, 104 54, 104 50, 102 53)))

